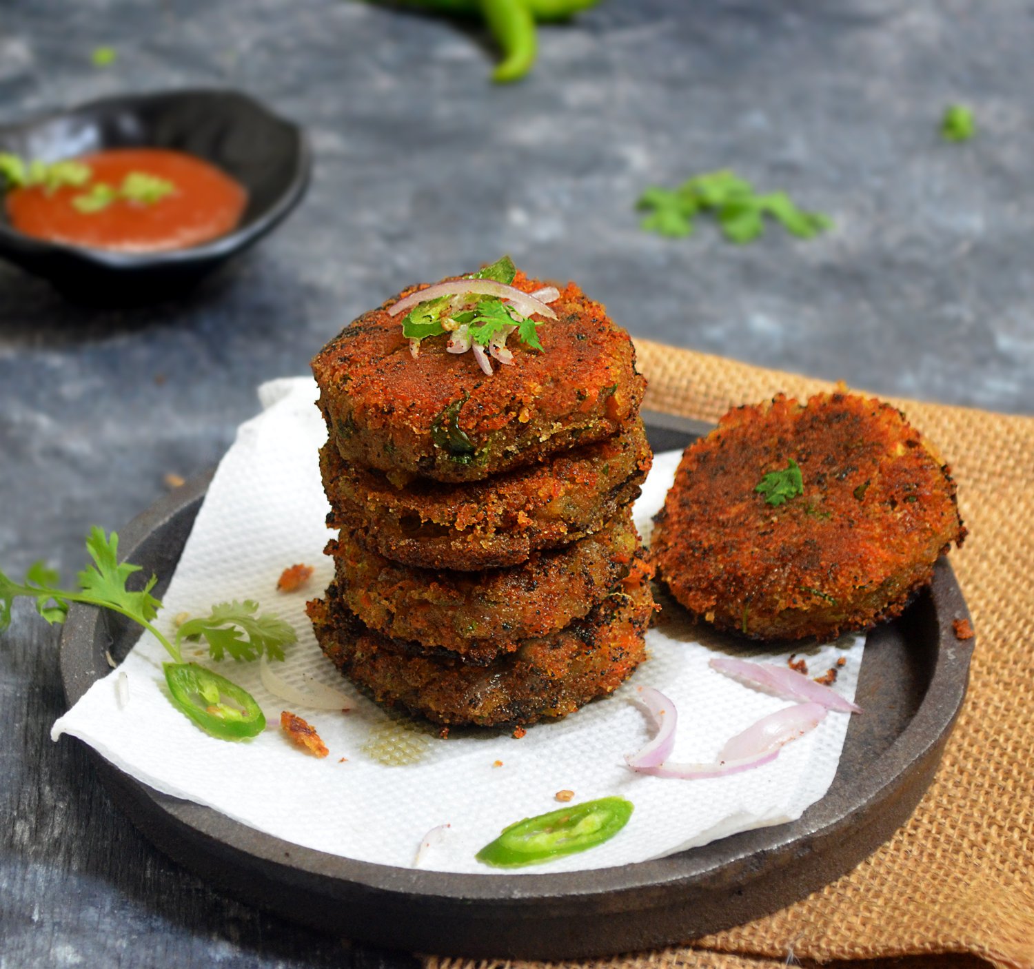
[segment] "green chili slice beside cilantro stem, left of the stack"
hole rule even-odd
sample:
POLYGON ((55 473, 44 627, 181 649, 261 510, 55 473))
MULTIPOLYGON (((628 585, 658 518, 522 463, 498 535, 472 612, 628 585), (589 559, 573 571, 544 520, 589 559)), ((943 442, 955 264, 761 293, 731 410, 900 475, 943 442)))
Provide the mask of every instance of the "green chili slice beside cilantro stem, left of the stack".
POLYGON ((243 740, 266 729, 262 707, 247 690, 196 663, 165 663, 173 705, 220 740, 243 740))

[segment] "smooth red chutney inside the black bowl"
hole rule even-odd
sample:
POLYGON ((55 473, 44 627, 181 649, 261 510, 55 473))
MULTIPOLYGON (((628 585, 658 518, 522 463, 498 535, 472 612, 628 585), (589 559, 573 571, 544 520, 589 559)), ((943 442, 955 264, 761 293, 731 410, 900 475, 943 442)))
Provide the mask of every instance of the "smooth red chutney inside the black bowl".
POLYGON ((215 165, 162 148, 118 148, 77 158, 92 176, 82 187, 51 194, 41 186, 7 194, 11 224, 27 236, 91 249, 165 252, 224 236, 241 219, 247 190, 215 165), (81 212, 72 200, 92 185, 122 184, 130 173, 172 182, 176 190, 151 204, 118 199, 95 212, 81 212))

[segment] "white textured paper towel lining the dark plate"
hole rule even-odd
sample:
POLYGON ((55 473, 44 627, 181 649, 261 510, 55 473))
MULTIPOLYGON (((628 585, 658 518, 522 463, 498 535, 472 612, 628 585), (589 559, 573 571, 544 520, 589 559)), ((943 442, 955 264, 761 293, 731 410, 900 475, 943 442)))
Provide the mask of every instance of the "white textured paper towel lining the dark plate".
MULTIPOLYGON (((315 396, 313 382, 302 377, 260 389, 266 410, 241 426, 219 464, 158 626, 171 634, 173 616, 181 612, 204 614, 226 599, 257 600, 262 611, 298 631, 287 661, 275 665, 277 674, 295 684, 313 676, 339 687, 353 697, 353 709, 327 713, 284 703, 263 688, 256 663, 226 661, 213 666, 251 692, 269 727, 244 744, 214 739, 169 702, 161 673, 168 656, 145 634, 119 671, 94 684, 58 720, 55 739, 70 733, 159 791, 208 805, 286 841, 363 861, 412 866, 424 835, 448 824, 421 859, 422 868, 448 872, 491 873, 475 859, 477 851, 507 824, 560 807, 555 799, 560 790, 574 791, 575 803, 619 794, 633 801, 635 812, 617 837, 549 862, 551 872, 642 861, 781 824, 826 792, 847 731, 845 714, 830 713, 776 761, 755 770, 697 781, 629 770, 625 755, 652 735, 633 702, 637 684, 657 687, 676 704, 677 760, 712 760, 730 736, 788 704, 711 670, 707 661, 716 655, 761 650, 744 650, 692 625, 673 603, 649 631, 650 657, 628 684, 566 720, 530 727, 521 739, 473 729, 454 729, 440 739, 433 728, 363 697, 321 654, 305 615, 305 600, 320 595, 333 574, 323 555, 328 506, 317 451, 326 431, 315 396), (295 563, 315 566, 312 580, 294 594, 276 592, 280 573, 295 563), (117 686, 122 672, 128 699, 124 689, 120 698, 117 686), (318 730, 329 757, 301 752, 280 732, 284 708, 318 730), (392 759, 409 762, 385 762, 392 759)), ((669 452, 655 459, 635 509, 644 539, 678 457, 669 452)), ((849 636, 803 656, 813 675, 845 658, 837 690, 853 698, 863 643, 863 637, 849 636)), ((787 656, 764 654, 773 663, 785 663, 787 656)), ((188 658, 200 657, 199 650, 188 658)))

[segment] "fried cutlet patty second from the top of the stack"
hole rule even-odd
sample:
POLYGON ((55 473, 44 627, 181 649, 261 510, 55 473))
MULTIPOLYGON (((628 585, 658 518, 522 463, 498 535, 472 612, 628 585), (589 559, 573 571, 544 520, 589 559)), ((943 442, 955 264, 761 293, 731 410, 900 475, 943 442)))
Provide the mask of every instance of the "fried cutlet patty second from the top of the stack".
POLYGON ((620 433, 490 481, 451 485, 388 478, 320 452, 327 523, 418 568, 504 568, 598 532, 639 495, 652 454, 638 418, 620 433))

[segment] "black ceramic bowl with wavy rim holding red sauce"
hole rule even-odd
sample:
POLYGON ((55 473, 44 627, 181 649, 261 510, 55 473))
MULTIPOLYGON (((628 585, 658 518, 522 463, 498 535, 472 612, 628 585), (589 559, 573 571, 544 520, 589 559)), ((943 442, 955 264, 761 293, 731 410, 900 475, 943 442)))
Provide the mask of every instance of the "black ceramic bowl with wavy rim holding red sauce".
POLYGON ((189 249, 127 253, 34 239, 14 230, 0 207, 0 258, 80 301, 166 299, 257 242, 308 186, 311 158, 302 129, 237 91, 120 95, 0 126, 0 151, 28 159, 56 161, 130 147, 188 152, 232 175, 248 190, 240 224, 189 249))

